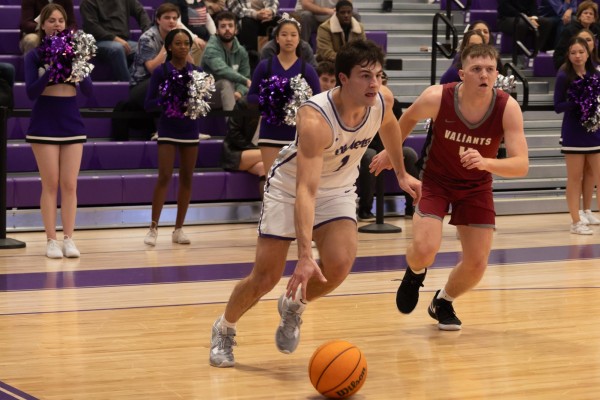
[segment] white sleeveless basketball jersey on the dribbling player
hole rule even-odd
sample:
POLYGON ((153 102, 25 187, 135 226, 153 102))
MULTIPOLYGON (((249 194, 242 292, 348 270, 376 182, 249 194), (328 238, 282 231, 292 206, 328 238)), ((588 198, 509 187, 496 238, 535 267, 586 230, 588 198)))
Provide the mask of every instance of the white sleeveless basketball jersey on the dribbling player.
MULTIPOLYGON (((383 120, 383 97, 378 93, 377 102, 369 107, 363 120, 355 127, 347 127, 342 122, 333 103, 334 88, 311 97, 301 107, 312 107, 317 110, 329 126, 323 126, 324 135, 333 135, 332 144, 323 154, 323 169, 317 197, 338 196, 353 192, 360 159, 369 147, 383 120)), ((295 197, 296 194, 296 154, 298 141, 302 137, 285 146, 279 152, 277 160, 269 172, 266 190, 273 186, 282 192, 295 197)))

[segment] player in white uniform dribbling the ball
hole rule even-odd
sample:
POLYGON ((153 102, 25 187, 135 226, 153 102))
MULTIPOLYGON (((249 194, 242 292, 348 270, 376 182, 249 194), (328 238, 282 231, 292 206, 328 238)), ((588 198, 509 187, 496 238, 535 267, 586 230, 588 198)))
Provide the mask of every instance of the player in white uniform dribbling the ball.
POLYGON ((296 140, 281 150, 265 184, 254 269, 234 288, 225 313, 212 327, 210 365, 235 364, 235 324, 279 282, 294 239, 298 263, 278 302, 281 323, 275 342, 283 353, 296 349, 307 304, 338 287, 354 263, 354 184, 360 159, 377 131, 389 149, 400 187, 418 201, 421 183, 404 169, 394 97, 381 85, 383 57, 371 41, 348 43, 336 57, 340 86, 299 108, 296 140), (311 240, 317 244, 319 263, 311 240))

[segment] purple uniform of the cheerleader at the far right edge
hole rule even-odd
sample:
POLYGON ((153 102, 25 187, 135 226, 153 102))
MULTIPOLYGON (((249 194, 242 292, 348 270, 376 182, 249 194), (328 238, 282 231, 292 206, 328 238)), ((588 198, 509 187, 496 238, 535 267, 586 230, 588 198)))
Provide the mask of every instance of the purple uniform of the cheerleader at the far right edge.
POLYGON ((600 130, 588 132, 579 121, 577 105, 567 97, 567 74, 559 71, 554 88, 554 110, 564 112, 561 136, 561 153, 600 153, 600 130))

